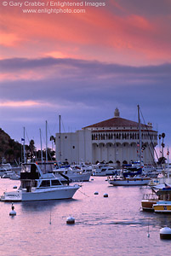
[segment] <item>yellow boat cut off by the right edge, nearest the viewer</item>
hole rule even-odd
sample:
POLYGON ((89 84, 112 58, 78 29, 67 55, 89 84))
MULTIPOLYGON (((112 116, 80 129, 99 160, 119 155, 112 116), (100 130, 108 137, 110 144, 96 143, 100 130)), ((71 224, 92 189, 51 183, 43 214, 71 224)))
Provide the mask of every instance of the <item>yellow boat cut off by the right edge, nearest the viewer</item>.
POLYGON ((171 213, 171 187, 166 184, 165 188, 157 191, 158 201, 153 204, 154 212, 171 213))

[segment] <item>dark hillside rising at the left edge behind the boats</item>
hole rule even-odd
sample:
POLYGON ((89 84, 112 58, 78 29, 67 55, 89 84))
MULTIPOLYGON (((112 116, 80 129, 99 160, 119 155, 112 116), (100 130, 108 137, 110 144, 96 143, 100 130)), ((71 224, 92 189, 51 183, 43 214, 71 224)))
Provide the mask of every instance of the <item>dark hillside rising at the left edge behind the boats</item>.
POLYGON ((7 162, 14 163, 21 156, 21 144, 15 142, 9 134, 0 128, 0 162, 4 158, 7 162))

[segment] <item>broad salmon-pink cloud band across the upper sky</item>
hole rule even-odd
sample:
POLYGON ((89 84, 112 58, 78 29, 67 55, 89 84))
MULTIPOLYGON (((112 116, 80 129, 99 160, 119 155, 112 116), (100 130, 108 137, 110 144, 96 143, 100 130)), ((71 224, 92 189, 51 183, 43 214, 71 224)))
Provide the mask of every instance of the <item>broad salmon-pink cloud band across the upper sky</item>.
POLYGON ((9 34, 3 45, 11 49, 10 53, 3 49, 3 57, 50 55, 140 65, 162 63, 171 55, 169 16, 130 13, 116 1, 105 8, 88 8, 85 15, 19 15, 19 11, 11 15, 11 11, 2 15, 9 34))

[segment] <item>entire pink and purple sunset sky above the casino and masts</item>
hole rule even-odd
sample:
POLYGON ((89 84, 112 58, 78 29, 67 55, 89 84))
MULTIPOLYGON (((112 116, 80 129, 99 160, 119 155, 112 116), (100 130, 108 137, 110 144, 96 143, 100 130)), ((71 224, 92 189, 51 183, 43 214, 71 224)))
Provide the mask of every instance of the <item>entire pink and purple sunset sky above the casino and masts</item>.
POLYGON ((23 13, 72 8, 6 2, 0 3, 0 127, 10 137, 20 142, 25 126, 38 148, 45 120, 54 135, 59 114, 61 130, 76 131, 112 118, 115 108, 136 121, 140 104, 145 122, 165 132, 171 148, 170 0, 91 0, 105 6, 77 7, 85 13, 75 14, 23 13))

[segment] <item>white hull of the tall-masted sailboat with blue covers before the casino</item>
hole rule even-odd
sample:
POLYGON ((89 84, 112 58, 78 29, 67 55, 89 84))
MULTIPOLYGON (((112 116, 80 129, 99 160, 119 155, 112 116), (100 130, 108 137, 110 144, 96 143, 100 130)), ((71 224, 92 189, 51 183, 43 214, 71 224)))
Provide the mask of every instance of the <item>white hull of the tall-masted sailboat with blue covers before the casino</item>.
POLYGON ((140 185, 148 185, 150 182, 150 177, 144 176, 134 176, 134 177, 107 177, 108 183, 113 186, 140 186, 140 185))

